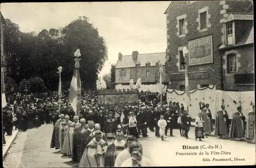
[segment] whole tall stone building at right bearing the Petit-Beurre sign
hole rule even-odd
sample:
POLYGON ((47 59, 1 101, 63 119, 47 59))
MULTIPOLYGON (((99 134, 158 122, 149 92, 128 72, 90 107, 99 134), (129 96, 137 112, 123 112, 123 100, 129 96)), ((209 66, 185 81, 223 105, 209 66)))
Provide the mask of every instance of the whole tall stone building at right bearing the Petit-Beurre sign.
MULTIPOLYGON (((251 1, 174 1, 170 3, 164 13, 167 25, 165 71, 167 80, 171 82, 168 88, 185 89, 183 47, 188 50, 190 90, 209 85, 216 85, 216 89, 222 90, 244 91, 253 88, 250 81, 246 84, 234 83, 238 75, 241 77, 242 74, 254 74, 252 71, 253 42, 252 45, 251 42, 247 42, 246 45, 236 45, 246 41, 245 39, 250 35, 249 31, 242 26, 253 21, 251 4, 251 1), (228 20, 231 22, 235 20, 234 23, 232 22, 233 27, 230 27, 228 20), (231 39, 230 31, 236 32, 232 36, 236 38, 233 40, 236 42, 231 45, 228 44, 231 39), (244 35, 245 32, 247 36, 244 35), (229 58, 227 61, 227 55, 230 53, 237 55, 233 58, 235 62, 230 63, 229 58), (249 67, 246 61, 251 62, 249 67), (230 69, 231 65, 234 66, 233 63, 239 68, 229 73, 226 69, 230 69)), ((248 75, 244 75, 243 78, 246 78, 245 76, 248 75)))

